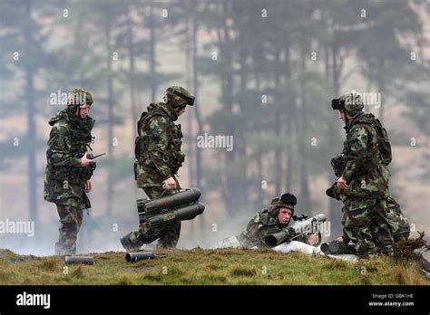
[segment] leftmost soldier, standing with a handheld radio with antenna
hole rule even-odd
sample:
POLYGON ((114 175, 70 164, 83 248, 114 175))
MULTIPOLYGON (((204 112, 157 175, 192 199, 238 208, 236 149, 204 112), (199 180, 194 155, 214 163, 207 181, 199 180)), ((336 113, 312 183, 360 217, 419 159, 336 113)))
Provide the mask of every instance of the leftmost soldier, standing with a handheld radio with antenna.
POLYGON ((76 253, 76 239, 83 222, 83 209, 91 207, 86 193, 92 190, 93 163, 87 158, 95 120, 88 116, 93 97, 74 89, 68 105, 49 120, 53 126, 46 150, 44 199, 56 205, 60 235, 55 254, 76 253))

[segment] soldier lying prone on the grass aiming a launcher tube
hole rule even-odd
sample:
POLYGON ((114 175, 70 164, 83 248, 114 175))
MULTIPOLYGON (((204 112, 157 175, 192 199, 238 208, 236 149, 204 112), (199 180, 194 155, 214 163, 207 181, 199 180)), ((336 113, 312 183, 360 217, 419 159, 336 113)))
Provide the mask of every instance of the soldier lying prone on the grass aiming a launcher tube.
MULTIPOLYGON (((269 247, 265 243, 266 236, 280 232, 286 228, 294 215, 294 206, 297 205, 297 198, 292 194, 284 194, 280 198, 271 201, 269 209, 263 209, 256 213, 249 221, 246 232, 237 236, 240 246, 245 248, 269 247)), ((300 236, 295 241, 313 244, 315 234, 300 236)))

